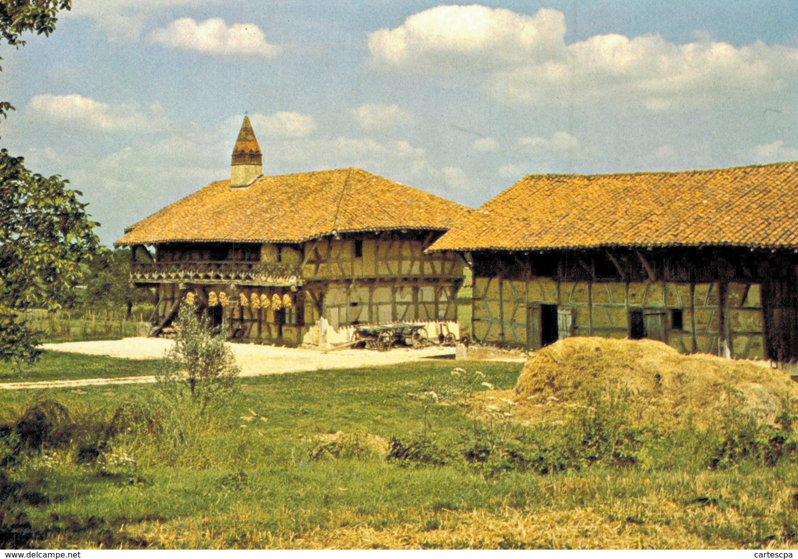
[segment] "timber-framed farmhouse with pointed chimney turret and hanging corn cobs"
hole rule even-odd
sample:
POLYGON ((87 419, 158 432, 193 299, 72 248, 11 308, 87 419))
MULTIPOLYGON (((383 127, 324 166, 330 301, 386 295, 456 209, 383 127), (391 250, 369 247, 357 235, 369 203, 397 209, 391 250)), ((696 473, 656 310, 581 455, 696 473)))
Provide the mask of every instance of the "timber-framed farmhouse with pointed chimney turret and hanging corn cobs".
POLYGON ((358 168, 263 176, 244 117, 219 180, 125 229, 155 335, 188 299, 245 341, 348 341, 365 323, 458 335, 464 261, 425 253, 468 208, 358 168))

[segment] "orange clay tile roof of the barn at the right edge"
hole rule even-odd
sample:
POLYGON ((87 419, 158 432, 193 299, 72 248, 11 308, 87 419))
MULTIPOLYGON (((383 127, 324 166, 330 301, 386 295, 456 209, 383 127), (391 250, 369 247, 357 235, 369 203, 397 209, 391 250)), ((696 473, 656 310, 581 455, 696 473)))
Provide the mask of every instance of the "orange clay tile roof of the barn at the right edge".
POLYGON ((798 248, 798 162, 684 172, 529 175, 430 250, 798 248))

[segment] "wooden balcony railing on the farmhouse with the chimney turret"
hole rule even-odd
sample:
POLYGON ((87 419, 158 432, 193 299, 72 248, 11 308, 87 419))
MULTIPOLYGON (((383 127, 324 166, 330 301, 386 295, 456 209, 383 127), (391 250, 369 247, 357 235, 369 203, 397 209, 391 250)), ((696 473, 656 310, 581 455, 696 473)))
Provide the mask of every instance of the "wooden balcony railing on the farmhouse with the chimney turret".
POLYGON ((265 262, 173 262, 130 264, 132 283, 237 283, 239 285, 302 285, 300 264, 265 262))

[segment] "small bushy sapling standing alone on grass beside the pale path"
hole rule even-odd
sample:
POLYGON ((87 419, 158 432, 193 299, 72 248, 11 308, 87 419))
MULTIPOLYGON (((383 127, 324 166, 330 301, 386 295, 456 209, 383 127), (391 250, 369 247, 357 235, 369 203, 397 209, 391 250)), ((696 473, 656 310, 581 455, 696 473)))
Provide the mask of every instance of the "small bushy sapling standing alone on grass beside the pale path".
POLYGON ((177 315, 175 346, 158 375, 161 386, 180 397, 186 389, 192 402, 205 410, 235 391, 240 368, 219 330, 199 319, 196 307, 184 303, 177 315))

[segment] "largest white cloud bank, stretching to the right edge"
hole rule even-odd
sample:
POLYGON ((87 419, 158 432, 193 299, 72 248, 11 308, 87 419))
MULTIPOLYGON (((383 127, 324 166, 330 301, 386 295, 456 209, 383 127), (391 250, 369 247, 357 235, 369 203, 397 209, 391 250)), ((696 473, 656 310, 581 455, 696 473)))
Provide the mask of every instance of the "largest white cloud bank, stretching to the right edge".
POLYGON ((595 35, 566 44, 564 16, 485 6, 438 6, 369 35, 373 65, 410 73, 457 72, 500 101, 539 105, 622 99, 650 111, 782 91, 798 75, 798 49, 735 47, 699 36, 595 35))

